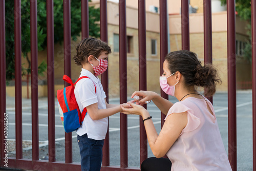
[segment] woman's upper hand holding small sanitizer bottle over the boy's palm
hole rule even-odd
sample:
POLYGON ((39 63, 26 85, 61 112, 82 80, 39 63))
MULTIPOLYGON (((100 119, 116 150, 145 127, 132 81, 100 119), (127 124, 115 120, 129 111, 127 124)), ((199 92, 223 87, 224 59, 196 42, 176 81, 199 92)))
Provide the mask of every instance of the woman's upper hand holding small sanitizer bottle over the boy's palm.
POLYGON ((155 92, 151 92, 151 91, 136 91, 132 94, 132 97, 133 98, 135 95, 139 96, 140 99, 139 100, 135 100, 136 104, 139 104, 139 105, 143 105, 145 104, 145 101, 150 101, 152 100, 153 98, 156 97, 156 95, 158 95, 157 93, 155 92))

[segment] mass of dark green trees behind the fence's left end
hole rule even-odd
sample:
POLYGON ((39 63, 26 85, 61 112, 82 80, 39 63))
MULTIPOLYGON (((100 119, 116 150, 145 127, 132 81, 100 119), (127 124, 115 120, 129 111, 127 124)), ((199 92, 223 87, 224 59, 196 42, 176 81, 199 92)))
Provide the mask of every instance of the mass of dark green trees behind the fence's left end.
MULTIPOLYGON (((91 2, 91 1, 89 1, 91 2)), ((14 76, 14 1, 6 1, 6 79, 12 80, 14 76)), ((30 1, 22 0, 22 54, 28 61, 28 68, 22 66, 22 75, 30 74, 30 1)), ((37 44, 38 51, 46 48, 46 1, 37 1, 37 44)), ((99 8, 89 7, 89 33, 90 36, 100 37, 99 28, 99 8)), ((81 1, 71 0, 71 36, 73 40, 81 32, 81 1)), ((63 0, 54 1, 54 42, 63 41, 63 0)), ((38 66, 38 74, 42 75, 47 68, 45 61, 38 66)))

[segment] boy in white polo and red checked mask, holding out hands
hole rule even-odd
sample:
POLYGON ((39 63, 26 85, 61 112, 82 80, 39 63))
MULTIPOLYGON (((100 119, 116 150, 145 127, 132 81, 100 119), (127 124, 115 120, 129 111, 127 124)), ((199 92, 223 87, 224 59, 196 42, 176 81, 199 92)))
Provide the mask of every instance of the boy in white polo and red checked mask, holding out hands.
POLYGON ((80 77, 90 78, 81 79, 75 87, 75 97, 80 111, 87 108, 86 117, 76 131, 82 170, 100 170, 103 141, 108 129, 107 117, 122 111, 119 104, 106 102, 105 92, 97 77, 108 68, 106 59, 110 53, 108 44, 89 37, 79 42, 76 55, 73 57, 76 65, 82 66, 80 77))

